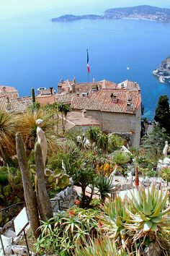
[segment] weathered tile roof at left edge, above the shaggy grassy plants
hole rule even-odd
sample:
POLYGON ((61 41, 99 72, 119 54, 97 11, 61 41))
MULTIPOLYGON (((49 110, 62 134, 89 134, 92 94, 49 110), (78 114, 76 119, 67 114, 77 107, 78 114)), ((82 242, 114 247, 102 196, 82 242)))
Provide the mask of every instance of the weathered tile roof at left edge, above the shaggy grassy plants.
POLYGON ((32 105, 31 97, 23 97, 23 98, 7 98, 0 96, 0 110, 1 111, 9 111, 22 113, 26 111, 27 106, 32 105))

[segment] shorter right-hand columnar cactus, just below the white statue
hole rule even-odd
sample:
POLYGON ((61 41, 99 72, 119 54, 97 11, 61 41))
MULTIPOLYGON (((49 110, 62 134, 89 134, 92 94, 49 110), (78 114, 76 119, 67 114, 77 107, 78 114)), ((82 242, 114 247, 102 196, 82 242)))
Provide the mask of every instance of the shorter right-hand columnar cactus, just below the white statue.
POLYGON ((42 159, 42 150, 40 143, 35 145, 35 166, 36 166, 36 195, 42 221, 53 217, 53 210, 50 204, 50 198, 45 187, 44 164, 42 159))

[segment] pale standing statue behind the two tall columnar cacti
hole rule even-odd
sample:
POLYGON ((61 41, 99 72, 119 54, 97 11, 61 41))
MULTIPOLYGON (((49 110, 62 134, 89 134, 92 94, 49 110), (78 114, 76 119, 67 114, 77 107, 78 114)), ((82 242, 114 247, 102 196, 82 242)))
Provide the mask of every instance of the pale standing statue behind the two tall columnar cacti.
POLYGON ((41 128, 42 124, 43 124, 43 120, 37 119, 36 124, 37 124, 37 142, 40 143, 41 150, 42 150, 42 159, 43 159, 43 163, 45 166, 47 153, 48 153, 48 143, 47 143, 47 139, 45 137, 45 132, 42 131, 42 128, 41 128))

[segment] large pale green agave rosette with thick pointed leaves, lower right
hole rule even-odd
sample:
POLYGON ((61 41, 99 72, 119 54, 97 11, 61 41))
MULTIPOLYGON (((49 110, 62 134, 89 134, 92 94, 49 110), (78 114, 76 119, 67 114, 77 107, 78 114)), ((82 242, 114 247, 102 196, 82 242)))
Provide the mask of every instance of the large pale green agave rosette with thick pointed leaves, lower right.
POLYGON ((166 226, 167 221, 170 221, 170 218, 166 216, 166 213, 170 212, 170 207, 164 210, 168 193, 164 192, 163 188, 158 190, 156 184, 153 183, 151 188, 139 187, 131 192, 131 195, 131 210, 126 209, 130 214, 132 224, 125 224, 127 229, 156 232, 161 226, 166 226))

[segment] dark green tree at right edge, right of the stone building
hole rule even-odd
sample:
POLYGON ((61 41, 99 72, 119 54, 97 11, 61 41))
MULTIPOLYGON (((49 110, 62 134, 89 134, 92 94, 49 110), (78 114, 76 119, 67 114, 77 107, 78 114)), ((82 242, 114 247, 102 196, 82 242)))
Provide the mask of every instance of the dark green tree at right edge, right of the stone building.
POLYGON ((166 95, 159 97, 154 119, 170 134, 169 98, 166 95))

